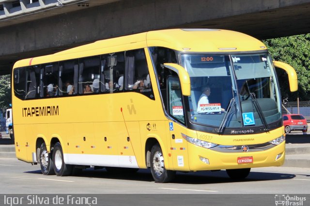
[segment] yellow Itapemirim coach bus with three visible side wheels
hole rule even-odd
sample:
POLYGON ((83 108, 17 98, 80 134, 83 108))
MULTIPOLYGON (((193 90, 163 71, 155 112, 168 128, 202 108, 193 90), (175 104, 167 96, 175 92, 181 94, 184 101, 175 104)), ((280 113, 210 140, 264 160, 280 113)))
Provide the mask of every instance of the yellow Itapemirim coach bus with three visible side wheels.
POLYGON ((284 162, 272 61, 257 39, 221 29, 167 29, 19 60, 12 77, 16 157, 44 175, 75 168, 223 170, 245 178, 284 162))

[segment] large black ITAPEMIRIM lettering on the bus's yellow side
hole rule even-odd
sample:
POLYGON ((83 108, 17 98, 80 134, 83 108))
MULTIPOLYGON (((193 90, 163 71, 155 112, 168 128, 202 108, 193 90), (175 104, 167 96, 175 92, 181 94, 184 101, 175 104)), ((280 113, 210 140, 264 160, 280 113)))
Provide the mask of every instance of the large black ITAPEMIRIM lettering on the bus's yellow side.
POLYGON ((42 117, 42 116, 58 116, 58 106, 36 106, 36 107, 23 107, 23 117, 42 117))

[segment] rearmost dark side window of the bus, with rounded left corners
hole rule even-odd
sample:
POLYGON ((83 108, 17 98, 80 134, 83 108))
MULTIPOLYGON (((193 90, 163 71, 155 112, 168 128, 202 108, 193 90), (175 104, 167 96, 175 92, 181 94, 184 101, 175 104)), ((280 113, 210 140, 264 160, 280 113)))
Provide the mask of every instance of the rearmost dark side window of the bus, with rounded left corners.
POLYGON ((14 94, 17 98, 23 100, 26 94, 26 68, 21 67, 14 70, 14 94))

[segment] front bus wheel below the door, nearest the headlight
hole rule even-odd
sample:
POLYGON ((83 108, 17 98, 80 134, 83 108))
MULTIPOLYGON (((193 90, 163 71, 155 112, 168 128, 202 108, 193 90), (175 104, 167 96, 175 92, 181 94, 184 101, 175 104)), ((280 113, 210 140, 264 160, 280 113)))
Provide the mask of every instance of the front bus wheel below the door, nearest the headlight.
POLYGON ((155 182, 170 182, 175 177, 175 171, 166 170, 164 156, 158 144, 151 150, 151 173, 155 182))

